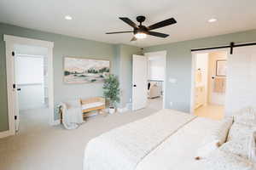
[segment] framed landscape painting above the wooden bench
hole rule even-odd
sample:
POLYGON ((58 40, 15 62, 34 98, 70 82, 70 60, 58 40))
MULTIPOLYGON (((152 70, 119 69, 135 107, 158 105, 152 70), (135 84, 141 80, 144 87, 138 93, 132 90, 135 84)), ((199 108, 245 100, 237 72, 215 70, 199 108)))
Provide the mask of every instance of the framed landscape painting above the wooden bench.
POLYGON ((64 57, 64 82, 104 82, 109 72, 109 60, 64 57))

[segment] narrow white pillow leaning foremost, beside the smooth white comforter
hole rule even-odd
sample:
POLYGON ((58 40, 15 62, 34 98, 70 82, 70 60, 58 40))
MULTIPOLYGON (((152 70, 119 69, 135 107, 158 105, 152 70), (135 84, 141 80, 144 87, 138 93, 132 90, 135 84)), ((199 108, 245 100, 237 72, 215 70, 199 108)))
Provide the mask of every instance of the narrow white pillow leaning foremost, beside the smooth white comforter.
POLYGON ((216 122, 215 127, 210 130, 209 134, 203 139, 201 147, 197 150, 196 160, 206 158, 213 150, 218 149, 221 144, 224 144, 232 122, 233 119, 230 118, 216 122))

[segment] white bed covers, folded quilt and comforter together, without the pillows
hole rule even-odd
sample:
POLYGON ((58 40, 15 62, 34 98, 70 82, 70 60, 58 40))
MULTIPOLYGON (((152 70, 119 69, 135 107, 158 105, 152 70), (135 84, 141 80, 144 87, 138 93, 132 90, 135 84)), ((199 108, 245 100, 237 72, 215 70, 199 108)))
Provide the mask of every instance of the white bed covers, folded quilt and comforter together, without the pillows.
POLYGON ((180 111, 159 111, 91 139, 84 170, 205 170, 195 160, 196 151, 217 124, 180 111))

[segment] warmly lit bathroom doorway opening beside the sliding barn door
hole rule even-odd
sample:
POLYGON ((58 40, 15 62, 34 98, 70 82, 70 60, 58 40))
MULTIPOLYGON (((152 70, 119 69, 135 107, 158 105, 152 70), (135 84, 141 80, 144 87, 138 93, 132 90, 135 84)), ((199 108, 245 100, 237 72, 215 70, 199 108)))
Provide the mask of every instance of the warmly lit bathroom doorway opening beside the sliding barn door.
POLYGON ((224 117, 227 51, 193 53, 191 112, 220 120, 224 117))

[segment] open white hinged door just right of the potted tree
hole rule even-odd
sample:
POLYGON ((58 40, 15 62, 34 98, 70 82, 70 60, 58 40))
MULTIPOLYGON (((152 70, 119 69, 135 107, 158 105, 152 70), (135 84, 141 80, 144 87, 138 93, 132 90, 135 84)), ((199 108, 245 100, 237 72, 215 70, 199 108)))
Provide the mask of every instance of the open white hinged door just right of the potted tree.
POLYGON ((132 56, 132 111, 147 105, 148 59, 143 55, 132 56))

